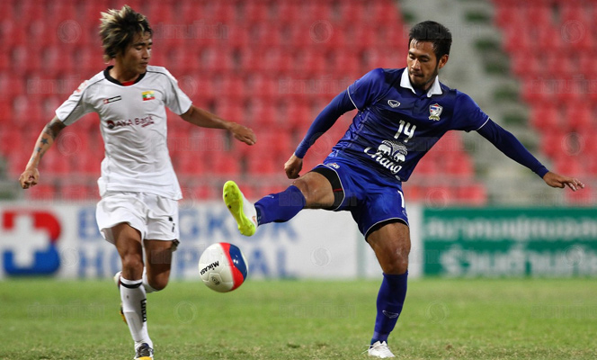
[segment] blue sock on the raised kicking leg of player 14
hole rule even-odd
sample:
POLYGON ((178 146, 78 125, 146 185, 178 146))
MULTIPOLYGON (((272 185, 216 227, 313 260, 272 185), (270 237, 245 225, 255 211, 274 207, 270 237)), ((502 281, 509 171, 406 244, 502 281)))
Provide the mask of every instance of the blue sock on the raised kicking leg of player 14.
POLYGON ((281 193, 272 193, 264 196, 255 202, 257 211, 257 222, 267 224, 268 222, 285 222, 298 214, 298 211, 305 207, 305 196, 295 185, 281 193))

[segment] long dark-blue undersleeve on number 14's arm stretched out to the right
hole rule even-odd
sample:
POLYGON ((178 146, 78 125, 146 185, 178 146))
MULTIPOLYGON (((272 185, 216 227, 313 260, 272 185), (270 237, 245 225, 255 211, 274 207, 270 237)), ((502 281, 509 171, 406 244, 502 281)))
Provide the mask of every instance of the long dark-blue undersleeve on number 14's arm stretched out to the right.
POLYGON ((512 160, 523 166, 529 167, 533 173, 540 177, 548 173, 548 169, 530 154, 529 150, 521 144, 521 141, 516 139, 511 132, 503 130, 500 125, 491 119, 486 121, 486 124, 477 130, 477 132, 491 141, 495 145, 495 148, 498 148, 507 157, 512 158, 512 160))

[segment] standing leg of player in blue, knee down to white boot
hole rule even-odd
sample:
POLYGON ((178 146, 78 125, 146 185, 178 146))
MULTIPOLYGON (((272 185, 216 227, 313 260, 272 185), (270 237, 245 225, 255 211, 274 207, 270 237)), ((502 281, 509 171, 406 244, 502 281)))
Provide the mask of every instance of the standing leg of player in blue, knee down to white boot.
POLYGON ((383 270, 379 287, 377 317, 369 355, 394 357, 388 347, 388 336, 396 326, 406 296, 410 232, 403 222, 391 222, 370 233, 367 238, 383 270))

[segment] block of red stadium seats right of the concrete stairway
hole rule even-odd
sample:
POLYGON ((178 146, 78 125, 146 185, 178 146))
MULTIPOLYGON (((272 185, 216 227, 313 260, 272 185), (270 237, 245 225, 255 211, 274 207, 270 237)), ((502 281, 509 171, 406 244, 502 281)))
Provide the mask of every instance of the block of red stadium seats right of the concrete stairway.
MULTIPOLYGON (((531 109, 530 126, 541 137, 541 151, 558 173, 590 178, 597 152, 593 118, 597 86, 594 1, 494 0, 495 24, 512 58, 512 75, 522 82, 531 109)), ((566 192, 571 204, 593 196, 566 192)))

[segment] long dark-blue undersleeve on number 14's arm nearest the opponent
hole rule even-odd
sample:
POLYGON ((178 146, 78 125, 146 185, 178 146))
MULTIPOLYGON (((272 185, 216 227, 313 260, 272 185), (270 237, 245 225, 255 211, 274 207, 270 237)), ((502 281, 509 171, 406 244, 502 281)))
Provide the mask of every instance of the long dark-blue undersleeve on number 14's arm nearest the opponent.
POLYGON ((346 90, 344 90, 334 97, 334 100, 332 100, 331 103, 328 103, 324 110, 319 112, 319 115, 317 115, 309 127, 309 130, 307 130, 307 135, 305 135, 305 138, 298 144, 297 149, 294 151, 294 155, 300 158, 305 157, 308 148, 315 143, 316 139, 319 139, 325 131, 329 130, 344 112, 350 112, 351 110, 354 110, 354 104, 351 102, 346 90))

